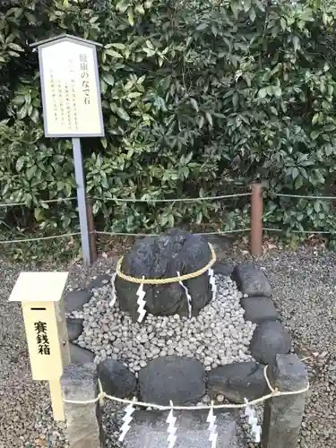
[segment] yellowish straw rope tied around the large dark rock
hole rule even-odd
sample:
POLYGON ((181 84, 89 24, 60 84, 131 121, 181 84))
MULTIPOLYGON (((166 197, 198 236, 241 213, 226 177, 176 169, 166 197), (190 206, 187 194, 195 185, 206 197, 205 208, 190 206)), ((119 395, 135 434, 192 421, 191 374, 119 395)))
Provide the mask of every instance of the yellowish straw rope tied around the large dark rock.
POLYGON ((211 252, 211 260, 205 266, 203 266, 198 271, 191 272, 189 274, 181 275, 179 277, 169 277, 167 279, 143 279, 139 277, 133 277, 131 275, 126 275, 121 271, 121 264, 123 263, 124 256, 120 257, 116 263, 116 275, 121 279, 130 281, 131 283, 136 283, 138 285, 167 285, 168 283, 176 283, 177 281, 184 281, 194 279, 195 277, 199 277, 204 272, 209 271, 211 266, 216 263, 216 254, 210 243, 209 248, 211 252))

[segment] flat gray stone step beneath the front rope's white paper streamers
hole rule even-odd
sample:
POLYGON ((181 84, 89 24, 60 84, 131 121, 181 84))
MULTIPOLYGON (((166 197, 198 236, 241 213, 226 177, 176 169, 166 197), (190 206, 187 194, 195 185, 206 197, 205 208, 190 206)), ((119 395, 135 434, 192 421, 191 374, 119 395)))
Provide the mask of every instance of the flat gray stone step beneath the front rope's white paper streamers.
MULTIPOLYGON (((206 410, 174 411, 177 417, 177 442, 174 448, 211 448, 206 410)), ((167 412, 137 410, 131 428, 125 436, 125 448, 168 447, 167 412)), ((233 413, 219 413, 216 419, 216 448, 245 448, 241 428, 233 413)))

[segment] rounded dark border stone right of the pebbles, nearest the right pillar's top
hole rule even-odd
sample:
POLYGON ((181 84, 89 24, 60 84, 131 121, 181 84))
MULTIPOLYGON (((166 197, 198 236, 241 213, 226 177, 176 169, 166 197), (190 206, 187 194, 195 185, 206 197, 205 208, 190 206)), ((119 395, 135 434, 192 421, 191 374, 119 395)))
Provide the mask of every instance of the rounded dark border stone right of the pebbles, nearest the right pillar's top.
POLYGON ((260 323, 250 343, 251 355, 263 364, 272 364, 278 354, 288 354, 290 346, 289 332, 279 321, 260 323))

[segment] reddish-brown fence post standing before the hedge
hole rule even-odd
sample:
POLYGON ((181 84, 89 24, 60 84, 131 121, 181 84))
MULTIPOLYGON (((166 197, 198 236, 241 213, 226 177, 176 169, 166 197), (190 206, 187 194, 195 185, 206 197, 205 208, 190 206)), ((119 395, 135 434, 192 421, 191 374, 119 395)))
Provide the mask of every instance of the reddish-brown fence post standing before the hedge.
POLYGON ((263 187, 251 185, 251 254, 263 254, 263 187))

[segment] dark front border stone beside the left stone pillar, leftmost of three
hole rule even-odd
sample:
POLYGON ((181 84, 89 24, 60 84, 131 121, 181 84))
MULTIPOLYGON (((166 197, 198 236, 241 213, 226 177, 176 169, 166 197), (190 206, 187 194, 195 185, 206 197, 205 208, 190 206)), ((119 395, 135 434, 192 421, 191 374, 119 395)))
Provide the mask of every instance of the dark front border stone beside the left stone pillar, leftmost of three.
POLYGON ((98 376, 108 395, 125 398, 131 396, 135 390, 135 375, 115 359, 106 359, 100 362, 98 376))

